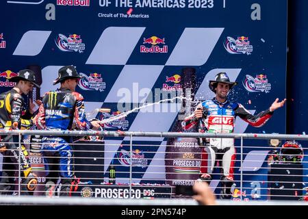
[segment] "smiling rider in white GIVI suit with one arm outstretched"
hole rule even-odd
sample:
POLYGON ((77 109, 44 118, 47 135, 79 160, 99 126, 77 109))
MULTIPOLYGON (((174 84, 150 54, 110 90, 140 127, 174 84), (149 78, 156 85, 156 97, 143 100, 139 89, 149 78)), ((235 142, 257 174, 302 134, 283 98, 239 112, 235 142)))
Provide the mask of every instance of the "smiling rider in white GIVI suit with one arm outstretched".
MULTIPOLYGON (((184 130, 198 127, 198 131, 208 133, 233 133, 235 118, 239 116, 246 123, 253 127, 261 127, 272 116, 274 110, 283 107, 286 99, 274 103, 257 115, 250 114, 240 103, 233 103, 227 100, 227 95, 237 82, 231 82, 226 73, 218 73, 215 81, 209 81, 209 88, 215 92, 216 96, 212 100, 199 104, 194 114, 185 118, 182 123, 184 130)), ((211 173, 214 170, 216 161, 222 160, 222 198, 230 198, 231 185, 234 180, 235 147, 233 138, 210 138, 205 142, 204 153, 201 156, 201 176, 202 181, 211 181, 211 173)))

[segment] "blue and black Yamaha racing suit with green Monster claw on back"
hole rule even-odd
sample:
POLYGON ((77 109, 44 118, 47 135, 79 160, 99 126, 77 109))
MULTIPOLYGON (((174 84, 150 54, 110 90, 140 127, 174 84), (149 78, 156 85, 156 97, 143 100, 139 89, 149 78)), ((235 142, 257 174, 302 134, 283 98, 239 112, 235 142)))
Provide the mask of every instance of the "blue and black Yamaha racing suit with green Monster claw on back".
MULTIPOLYGON (((92 128, 91 123, 86 119, 84 97, 81 94, 65 88, 44 94, 42 105, 34 118, 34 123, 39 129, 70 130, 73 127, 73 122, 79 130, 92 128)), ((49 157, 47 169, 60 171, 62 184, 60 196, 70 196, 72 190, 76 189, 73 186, 76 181, 71 142, 72 138, 66 136, 44 136, 42 138, 42 154, 49 157), (56 160, 51 157, 56 157, 56 160)), ((54 173, 50 171, 48 178, 57 179, 54 173)))

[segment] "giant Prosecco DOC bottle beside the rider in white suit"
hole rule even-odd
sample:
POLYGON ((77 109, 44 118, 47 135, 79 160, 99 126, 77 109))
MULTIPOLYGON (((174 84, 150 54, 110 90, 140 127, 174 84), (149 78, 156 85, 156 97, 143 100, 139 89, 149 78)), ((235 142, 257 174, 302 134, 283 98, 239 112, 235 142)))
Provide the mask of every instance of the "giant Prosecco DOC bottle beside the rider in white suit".
MULTIPOLYGON (((195 68, 183 68, 181 72, 183 104, 172 132, 184 131, 181 123, 193 112, 196 92, 195 68)), ((196 129, 192 131, 197 131, 196 129)), ((193 185, 201 166, 201 149, 196 138, 169 138, 166 148, 166 183, 169 185, 193 185), (186 173, 186 174, 185 174, 186 173)))

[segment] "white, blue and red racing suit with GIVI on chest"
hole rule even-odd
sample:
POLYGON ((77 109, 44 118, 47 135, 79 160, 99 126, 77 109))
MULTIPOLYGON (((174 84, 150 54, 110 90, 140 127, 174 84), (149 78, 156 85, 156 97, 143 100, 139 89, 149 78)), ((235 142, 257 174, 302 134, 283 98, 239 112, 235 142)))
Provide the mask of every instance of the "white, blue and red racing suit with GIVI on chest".
MULTIPOLYGON (((215 98, 204 101, 197 107, 202 107, 203 118, 196 118, 194 114, 183 120, 184 130, 198 128, 198 131, 207 133, 233 133, 235 118, 240 116, 253 127, 261 127, 272 116, 270 110, 265 110, 257 115, 252 115, 240 103, 225 101, 218 102, 215 98)), ((221 161, 222 180, 234 180, 235 147, 233 138, 209 138, 201 155, 201 178, 211 180, 216 161, 221 161)))

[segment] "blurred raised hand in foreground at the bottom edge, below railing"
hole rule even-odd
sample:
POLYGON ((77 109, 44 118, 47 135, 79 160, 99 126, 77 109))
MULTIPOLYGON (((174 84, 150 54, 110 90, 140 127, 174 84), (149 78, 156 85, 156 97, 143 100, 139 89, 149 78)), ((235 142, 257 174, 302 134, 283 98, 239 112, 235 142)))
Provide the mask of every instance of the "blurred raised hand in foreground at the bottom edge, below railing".
POLYGON ((193 186, 196 195, 192 196, 201 205, 216 205, 216 196, 205 182, 196 182, 193 186))

